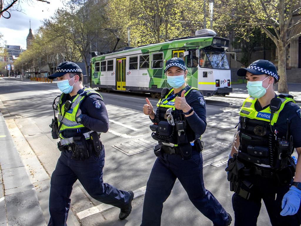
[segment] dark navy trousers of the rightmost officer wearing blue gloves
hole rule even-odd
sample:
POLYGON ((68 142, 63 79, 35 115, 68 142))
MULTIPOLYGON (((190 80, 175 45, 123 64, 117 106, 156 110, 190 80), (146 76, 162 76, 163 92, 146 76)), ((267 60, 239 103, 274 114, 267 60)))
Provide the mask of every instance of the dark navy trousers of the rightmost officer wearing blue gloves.
POLYGON ((281 216, 281 202, 289 190, 289 186, 280 185, 276 178, 259 175, 246 176, 253 187, 249 199, 244 199, 234 193, 232 206, 235 214, 235 226, 256 226, 257 218, 263 200, 273 226, 299 226, 300 209, 295 215, 281 216), (277 194, 277 195, 276 195, 277 194))

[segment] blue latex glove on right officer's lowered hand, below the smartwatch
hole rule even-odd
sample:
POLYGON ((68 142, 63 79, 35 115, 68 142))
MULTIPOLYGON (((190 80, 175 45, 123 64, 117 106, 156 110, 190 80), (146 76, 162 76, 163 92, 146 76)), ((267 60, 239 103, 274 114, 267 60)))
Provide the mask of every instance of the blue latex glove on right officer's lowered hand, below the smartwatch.
POLYGON ((299 209, 301 199, 301 190, 295 186, 290 187, 290 190, 283 196, 281 216, 294 215, 299 209))

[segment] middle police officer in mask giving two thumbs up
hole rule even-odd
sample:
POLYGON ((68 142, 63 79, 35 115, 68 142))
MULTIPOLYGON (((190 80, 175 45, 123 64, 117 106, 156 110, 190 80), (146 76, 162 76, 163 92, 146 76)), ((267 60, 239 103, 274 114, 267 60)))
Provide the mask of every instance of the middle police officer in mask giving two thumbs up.
POLYGON ((154 125, 152 137, 158 141, 157 159, 147 181, 141 226, 159 226, 163 202, 178 178, 194 206, 216 226, 230 225, 231 216, 205 189, 202 143, 206 129, 206 106, 203 95, 187 86, 187 70, 182 58, 166 62, 167 83, 172 87, 162 95, 156 113, 149 100, 143 106, 154 125))

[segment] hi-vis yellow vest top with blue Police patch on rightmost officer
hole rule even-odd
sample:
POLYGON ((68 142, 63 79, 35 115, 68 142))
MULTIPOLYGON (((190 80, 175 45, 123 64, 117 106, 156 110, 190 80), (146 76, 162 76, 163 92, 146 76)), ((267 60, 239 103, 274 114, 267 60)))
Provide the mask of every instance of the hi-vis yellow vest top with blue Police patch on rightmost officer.
MULTIPOLYGON (((278 97, 278 98, 280 98, 280 97, 278 97)), ((284 105, 287 102, 292 101, 292 102, 296 103, 292 98, 285 97, 285 98, 280 98, 280 99, 282 101, 282 104, 281 104, 279 110, 276 111, 273 115, 272 122, 271 122, 272 125, 274 125, 274 123, 277 122, 279 113, 282 111, 282 109, 284 108, 284 105)), ((257 120, 270 122, 270 118, 271 118, 270 107, 267 107, 261 111, 256 111, 254 108, 254 104, 256 101, 257 101, 257 98, 254 98, 252 96, 249 96, 247 99, 245 99, 244 103, 240 109, 239 115, 243 116, 243 117, 251 118, 251 119, 257 119, 257 120)))

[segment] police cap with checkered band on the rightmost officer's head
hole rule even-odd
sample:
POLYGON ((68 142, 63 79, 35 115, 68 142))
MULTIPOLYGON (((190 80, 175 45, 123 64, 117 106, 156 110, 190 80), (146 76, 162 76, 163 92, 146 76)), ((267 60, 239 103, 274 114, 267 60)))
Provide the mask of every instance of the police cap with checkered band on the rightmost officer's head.
POLYGON ((277 69, 275 65, 267 60, 257 60, 249 65, 247 68, 240 68, 237 71, 238 76, 246 76, 246 73, 250 72, 251 74, 266 74, 275 78, 276 81, 279 80, 279 76, 277 74, 277 69))

